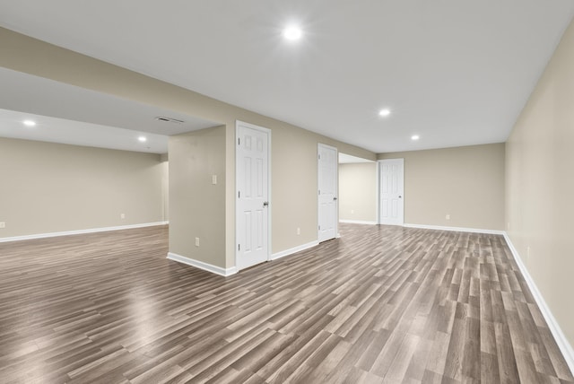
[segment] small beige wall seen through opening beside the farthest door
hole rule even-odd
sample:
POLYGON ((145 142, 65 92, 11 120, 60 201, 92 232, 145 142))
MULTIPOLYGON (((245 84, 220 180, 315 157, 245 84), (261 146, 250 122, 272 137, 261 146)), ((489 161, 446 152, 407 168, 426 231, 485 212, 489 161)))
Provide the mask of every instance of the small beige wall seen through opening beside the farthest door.
POLYGON ((377 163, 339 164, 339 220, 377 222, 377 163))

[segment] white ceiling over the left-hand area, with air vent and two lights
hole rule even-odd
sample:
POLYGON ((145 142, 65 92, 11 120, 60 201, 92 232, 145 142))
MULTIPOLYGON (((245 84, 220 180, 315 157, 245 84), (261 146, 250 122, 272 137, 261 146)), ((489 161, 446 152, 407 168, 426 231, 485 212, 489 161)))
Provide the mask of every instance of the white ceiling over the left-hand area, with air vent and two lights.
POLYGON ((0 67, 0 136, 167 153, 168 136, 218 123, 0 67), (183 123, 162 122, 157 117, 183 123), (24 127, 31 119, 36 127, 24 127), (145 143, 137 140, 140 135, 145 143))

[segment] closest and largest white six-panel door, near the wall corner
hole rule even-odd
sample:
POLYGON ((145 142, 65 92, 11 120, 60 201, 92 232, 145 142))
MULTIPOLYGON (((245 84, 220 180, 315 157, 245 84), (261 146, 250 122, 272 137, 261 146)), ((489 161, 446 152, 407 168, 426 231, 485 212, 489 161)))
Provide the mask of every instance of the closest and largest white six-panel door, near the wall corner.
POLYGON ((238 121, 236 173, 236 266, 269 259, 269 138, 271 131, 238 121))

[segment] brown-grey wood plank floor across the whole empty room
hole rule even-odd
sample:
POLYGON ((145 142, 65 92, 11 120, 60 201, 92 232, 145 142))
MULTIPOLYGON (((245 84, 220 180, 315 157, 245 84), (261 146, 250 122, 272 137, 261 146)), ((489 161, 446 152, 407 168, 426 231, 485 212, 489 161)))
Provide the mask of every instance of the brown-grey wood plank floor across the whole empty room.
POLYGON ((0 243, 0 382, 574 382, 501 236, 341 233, 228 278, 166 227, 0 243))

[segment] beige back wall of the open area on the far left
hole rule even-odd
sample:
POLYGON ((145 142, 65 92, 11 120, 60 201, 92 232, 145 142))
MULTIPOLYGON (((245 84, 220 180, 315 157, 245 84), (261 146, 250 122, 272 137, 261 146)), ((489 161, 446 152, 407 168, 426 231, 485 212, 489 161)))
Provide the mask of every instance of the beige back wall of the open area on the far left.
POLYGON ((0 138, 0 238, 161 222, 163 168, 157 154, 0 138))

